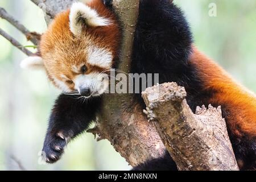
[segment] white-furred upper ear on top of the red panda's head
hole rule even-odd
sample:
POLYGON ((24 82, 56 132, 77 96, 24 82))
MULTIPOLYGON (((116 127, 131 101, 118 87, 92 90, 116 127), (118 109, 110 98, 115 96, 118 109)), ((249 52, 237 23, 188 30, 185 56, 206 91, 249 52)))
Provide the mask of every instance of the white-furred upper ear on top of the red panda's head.
POLYGON ((109 24, 109 19, 101 17, 96 10, 91 9, 84 3, 75 2, 71 6, 69 26, 74 35, 79 36, 84 26, 100 27, 108 26, 109 24))

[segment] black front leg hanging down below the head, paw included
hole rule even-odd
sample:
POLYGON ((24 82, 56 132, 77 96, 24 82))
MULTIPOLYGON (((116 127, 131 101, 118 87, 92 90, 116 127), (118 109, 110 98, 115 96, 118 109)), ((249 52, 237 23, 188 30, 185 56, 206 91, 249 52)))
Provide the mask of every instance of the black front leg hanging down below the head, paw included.
POLYGON ((76 96, 61 94, 55 101, 44 140, 42 158, 47 163, 60 159, 69 140, 88 129, 100 107, 100 98, 86 102, 76 96))

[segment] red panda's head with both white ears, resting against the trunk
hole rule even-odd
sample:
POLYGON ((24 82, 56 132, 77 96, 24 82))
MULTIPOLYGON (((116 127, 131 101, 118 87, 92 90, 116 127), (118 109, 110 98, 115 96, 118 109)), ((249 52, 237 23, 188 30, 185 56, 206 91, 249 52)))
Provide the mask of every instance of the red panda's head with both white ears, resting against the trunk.
POLYGON ((63 92, 98 96, 108 87, 106 72, 117 57, 121 31, 113 11, 101 0, 73 3, 53 20, 40 42, 40 57, 23 67, 43 67, 63 92))

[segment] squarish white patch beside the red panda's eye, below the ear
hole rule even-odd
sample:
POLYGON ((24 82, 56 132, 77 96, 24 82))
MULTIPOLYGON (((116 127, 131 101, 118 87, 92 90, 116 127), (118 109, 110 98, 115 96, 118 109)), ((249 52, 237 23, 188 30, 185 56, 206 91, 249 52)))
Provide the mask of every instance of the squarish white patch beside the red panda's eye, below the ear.
POLYGON ((106 69, 110 69, 112 67, 113 56, 108 49, 97 46, 89 46, 87 51, 87 63, 106 69))

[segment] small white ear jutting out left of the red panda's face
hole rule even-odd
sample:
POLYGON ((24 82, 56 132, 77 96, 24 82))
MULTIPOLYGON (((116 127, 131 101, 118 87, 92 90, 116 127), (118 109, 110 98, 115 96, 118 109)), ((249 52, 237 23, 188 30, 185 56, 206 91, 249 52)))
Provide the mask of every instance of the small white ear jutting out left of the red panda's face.
POLYGON ((44 69, 44 63, 42 57, 30 56, 22 60, 20 67, 24 69, 44 69))

